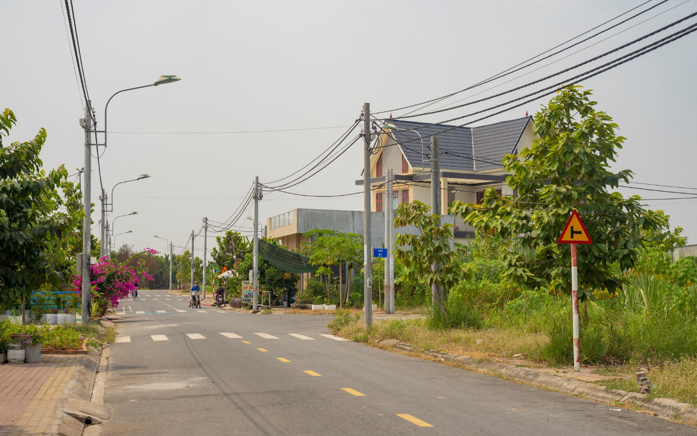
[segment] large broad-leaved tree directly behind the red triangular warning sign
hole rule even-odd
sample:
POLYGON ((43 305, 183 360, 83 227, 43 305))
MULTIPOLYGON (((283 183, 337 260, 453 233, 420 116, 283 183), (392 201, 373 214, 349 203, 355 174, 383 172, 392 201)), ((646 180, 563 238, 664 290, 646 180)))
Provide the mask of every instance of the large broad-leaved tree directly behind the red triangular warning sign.
POLYGON ((570 248, 556 241, 573 209, 593 241, 578 246, 582 290, 617 289, 620 271, 636 262, 643 232, 660 225, 657 213, 641 207, 640 197, 612 192, 632 174, 610 170, 625 138, 615 134, 617 124, 595 110, 590 98, 591 91, 568 87, 535 114, 539 139, 520 156, 503 159, 512 174, 506 183, 518 197, 489 188, 480 205, 452 206, 452 213, 478 230, 510 239, 500 260, 514 283, 570 291, 570 248))

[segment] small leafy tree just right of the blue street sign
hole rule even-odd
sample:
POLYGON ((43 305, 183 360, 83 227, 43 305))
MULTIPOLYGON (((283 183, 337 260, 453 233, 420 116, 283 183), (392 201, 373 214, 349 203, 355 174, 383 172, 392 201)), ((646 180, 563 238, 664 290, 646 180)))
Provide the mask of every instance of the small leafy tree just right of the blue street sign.
POLYGON ((413 226, 419 234, 395 235, 395 260, 404 265, 401 280, 406 283, 442 287, 436 292, 436 303, 446 314, 444 299, 454 285, 469 276, 468 265, 457 262, 459 256, 451 248, 452 224, 439 225, 440 216, 422 202, 400 204, 395 227, 413 226), (438 266, 434 268, 434 264, 438 266))

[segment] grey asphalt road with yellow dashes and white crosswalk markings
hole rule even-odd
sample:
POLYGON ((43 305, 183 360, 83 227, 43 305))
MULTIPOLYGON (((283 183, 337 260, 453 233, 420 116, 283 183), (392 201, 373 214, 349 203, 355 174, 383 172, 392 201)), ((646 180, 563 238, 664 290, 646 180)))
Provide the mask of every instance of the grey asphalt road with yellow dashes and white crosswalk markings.
POLYGON ((164 291, 121 303, 105 394, 114 417, 103 435, 697 434, 645 414, 337 340, 327 316, 187 304, 164 291))

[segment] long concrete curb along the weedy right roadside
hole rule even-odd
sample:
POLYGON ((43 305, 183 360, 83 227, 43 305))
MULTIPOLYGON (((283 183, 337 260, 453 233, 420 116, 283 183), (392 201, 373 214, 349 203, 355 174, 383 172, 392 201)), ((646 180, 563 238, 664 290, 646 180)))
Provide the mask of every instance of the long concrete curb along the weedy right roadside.
POLYGON ((541 373, 531 368, 519 368, 506 365, 505 363, 473 359, 469 356, 444 353, 434 349, 421 350, 414 345, 399 342, 399 340, 396 339, 382 340, 378 345, 381 347, 397 348, 414 354, 425 354, 438 361, 456 363, 467 370, 473 370, 477 373, 502 377, 550 391, 588 398, 602 403, 613 404, 615 402, 620 402, 627 404, 629 408, 636 409, 639 412, 646 412, 664 419, 670 419, 671 421, 697 426, 697 407, 693 407, 687 403, 679 403, 670 398, 647 399, 646 395, 643 393, 607 389, 605 386, 541 373))

